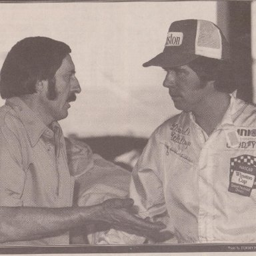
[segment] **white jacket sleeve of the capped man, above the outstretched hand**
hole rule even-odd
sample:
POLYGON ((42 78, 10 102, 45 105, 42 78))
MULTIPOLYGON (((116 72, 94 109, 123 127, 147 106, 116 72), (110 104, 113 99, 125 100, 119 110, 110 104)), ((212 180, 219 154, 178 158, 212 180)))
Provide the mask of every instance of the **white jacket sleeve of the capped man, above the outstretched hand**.
POLYGON ((132 172, 129 197, 137 207, 138 214, 153 219, 167 211, 163 194, 163 155, 157 141, 157 133, 149 139, 132 172))

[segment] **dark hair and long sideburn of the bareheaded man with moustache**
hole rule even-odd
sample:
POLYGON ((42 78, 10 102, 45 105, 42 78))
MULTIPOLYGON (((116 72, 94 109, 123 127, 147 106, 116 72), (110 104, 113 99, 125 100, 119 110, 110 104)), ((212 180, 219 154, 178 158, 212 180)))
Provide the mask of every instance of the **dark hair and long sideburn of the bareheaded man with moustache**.
POLYGON ((49 99, 54 99, 54 75, 71 53, 68 45, 48 37, 27 37, 16 43, 3 63, 0 93, 3 99, 36 92, 37 81, 49 81, 49 99))

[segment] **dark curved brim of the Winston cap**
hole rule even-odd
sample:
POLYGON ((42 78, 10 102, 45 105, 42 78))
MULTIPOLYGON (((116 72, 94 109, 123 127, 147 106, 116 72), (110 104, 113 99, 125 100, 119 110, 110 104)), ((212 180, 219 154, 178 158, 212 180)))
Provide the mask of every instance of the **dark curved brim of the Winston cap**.
POLYGON ((184 53, 160 53, 150 61, 143 63, 143 67, 159 66, 159 67, 178 67, 185 65, 194 59, 197 59, 199 55, 184 54, 184 53))

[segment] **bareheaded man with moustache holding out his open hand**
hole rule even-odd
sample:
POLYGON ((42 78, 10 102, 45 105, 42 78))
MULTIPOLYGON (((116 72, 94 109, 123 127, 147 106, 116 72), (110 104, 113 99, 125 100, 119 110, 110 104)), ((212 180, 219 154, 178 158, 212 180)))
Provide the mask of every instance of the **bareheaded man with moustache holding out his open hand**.
MULTIPOLYGON (((57 123, 81 91, 69 53, 63 42, 28 37, 12 47, 1 69, 1 97, 7 100, 0 109, 0 241, 15 241, 8 245, 68 245, 69 230, 88 223, 149 236, 163 228, 128 213, 131 199, 73 206, 81 173, 68 168, 57 123)), ((79 163, 70 155, 85 149, 68 144, 72 163, 91 170, 93 159, 79 163)))

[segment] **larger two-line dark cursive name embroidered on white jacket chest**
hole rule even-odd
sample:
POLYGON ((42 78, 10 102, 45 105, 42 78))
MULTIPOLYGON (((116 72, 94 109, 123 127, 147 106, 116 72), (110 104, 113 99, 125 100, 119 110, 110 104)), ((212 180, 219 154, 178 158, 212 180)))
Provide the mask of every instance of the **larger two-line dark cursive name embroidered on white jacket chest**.
POLYGON ((171 129, 171 141, 175 143, 179 143, 180 145, 184 145, 185 149, 191 145, 191 142, 189 139, 187 139, 187 136, 190 133, 190 128, 187 127, 186 129, 183 129, 181 125, 178 123, 173 123, 170 127, 171 129))

